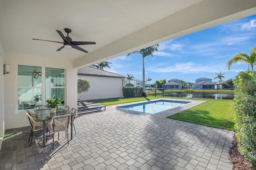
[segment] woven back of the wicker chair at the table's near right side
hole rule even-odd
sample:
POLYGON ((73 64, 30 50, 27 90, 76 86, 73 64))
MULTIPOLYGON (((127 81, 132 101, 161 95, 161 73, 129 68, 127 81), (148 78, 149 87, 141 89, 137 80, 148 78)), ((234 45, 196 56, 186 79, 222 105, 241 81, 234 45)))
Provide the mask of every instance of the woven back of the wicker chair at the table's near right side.
POLYGON ((50 133, 62 132, 68 130, 68 125, 70 122, 70 114, 54 116, 50 121, 50 133))

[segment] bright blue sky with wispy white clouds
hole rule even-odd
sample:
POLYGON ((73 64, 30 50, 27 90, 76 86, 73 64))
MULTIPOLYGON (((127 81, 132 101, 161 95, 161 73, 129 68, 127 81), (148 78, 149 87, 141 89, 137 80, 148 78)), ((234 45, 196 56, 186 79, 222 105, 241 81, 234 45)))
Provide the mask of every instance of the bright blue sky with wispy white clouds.
MULTIPOLYGON (((145 79, 152 78, 150 84, 172 78, 194 83, 201 77, 217 82, 215 73, 222 71, 226 72, 224 80, 228 80, 240 70, 248 69, 247 64, 235 63, 229 71, 228 59, 238 53, 249 55, 253 46, 256 46, 256 15, 160 43, 158 52, 145 58, 145 79)), ((111 68, 104 70, 142 79, 141 55, 127 57, 126 54, 108 62, 112 63, 111 68)))

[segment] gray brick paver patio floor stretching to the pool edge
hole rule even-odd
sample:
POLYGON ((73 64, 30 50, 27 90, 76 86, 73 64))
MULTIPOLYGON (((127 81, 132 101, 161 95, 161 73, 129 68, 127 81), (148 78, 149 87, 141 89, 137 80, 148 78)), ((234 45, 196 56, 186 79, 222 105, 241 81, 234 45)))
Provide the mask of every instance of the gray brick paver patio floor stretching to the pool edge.
POLYGON ((55 135, 54 150, 52 140, 42 148, 40 132, 29 147, 30 127, 9 129, 2 143, 0 169, 232 170, 228 151, 233 131, 166 118, 198 103, 156 114, 116 106, 80 114, 74 121, 73 140, 67 145, 65 133, 60 140, 55 135))

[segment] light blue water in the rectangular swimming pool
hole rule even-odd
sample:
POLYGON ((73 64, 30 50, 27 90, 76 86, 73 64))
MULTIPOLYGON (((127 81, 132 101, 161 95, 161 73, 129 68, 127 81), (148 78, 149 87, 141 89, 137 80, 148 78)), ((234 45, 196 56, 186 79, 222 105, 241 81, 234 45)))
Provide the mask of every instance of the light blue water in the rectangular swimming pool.
POLYGON ((135 110, 135 111, 141 111, 144 113, 158 113, 160 111, 172 109, 177 106, 182 106, 184 104, 188 104, 190 102, 181 102, 181 101, 170 101, 170 100, 157 100, 154 102, 144 102, 140 104, 132 104, 132 105, 126 105, 126 106, 119 106, 123 109, 129 109, 129 110, 135 110))

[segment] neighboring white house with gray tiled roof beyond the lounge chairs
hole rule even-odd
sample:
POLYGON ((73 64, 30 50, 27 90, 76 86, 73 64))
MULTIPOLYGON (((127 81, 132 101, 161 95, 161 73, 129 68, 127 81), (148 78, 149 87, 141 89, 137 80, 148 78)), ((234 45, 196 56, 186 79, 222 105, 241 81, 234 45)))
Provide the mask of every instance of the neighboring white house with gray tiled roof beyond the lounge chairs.
POLYGON ((78 78, 85 78, 90 82, 88 92, 78 94, 79 100, 122 98, 122 79, 124 76, 91 66, 79 68, 77 74, 78 78))

